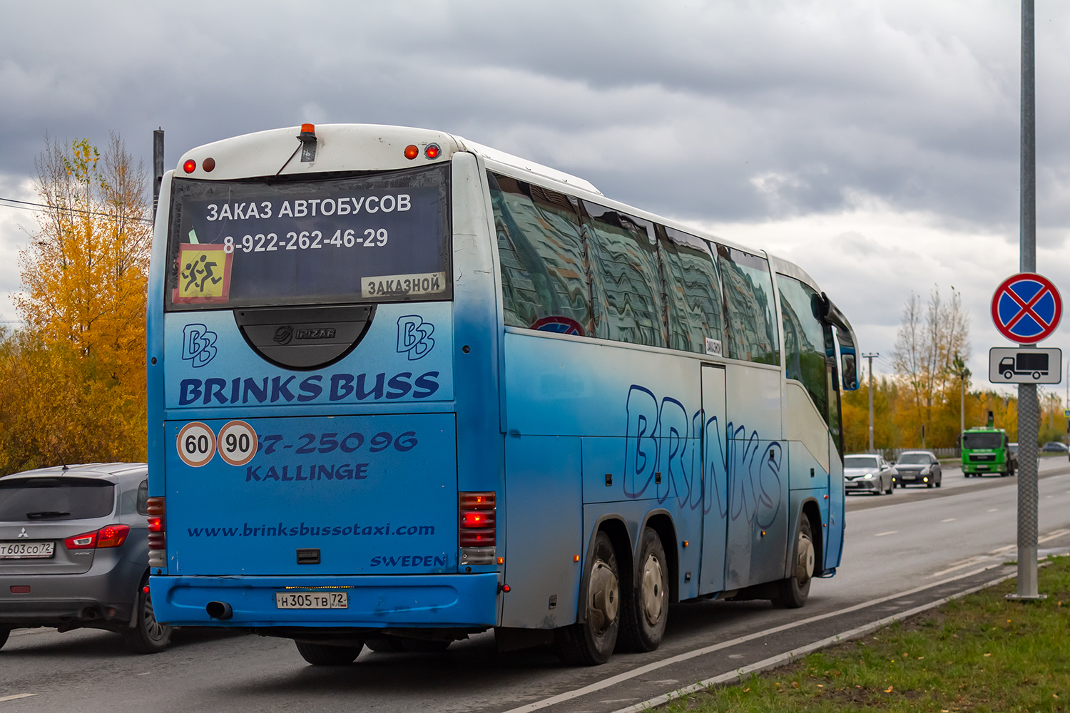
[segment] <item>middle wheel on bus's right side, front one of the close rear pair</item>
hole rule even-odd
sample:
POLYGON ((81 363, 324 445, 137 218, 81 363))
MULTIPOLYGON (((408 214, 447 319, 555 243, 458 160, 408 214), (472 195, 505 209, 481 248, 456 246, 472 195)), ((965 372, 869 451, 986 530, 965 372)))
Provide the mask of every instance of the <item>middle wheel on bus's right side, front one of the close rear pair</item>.
POLYGON ((669 562, 661 538, 649 527, 643 530, 636 561, 639 584, 623 604, 617 645, 624 651, 654 651, 669 621, 669 562))

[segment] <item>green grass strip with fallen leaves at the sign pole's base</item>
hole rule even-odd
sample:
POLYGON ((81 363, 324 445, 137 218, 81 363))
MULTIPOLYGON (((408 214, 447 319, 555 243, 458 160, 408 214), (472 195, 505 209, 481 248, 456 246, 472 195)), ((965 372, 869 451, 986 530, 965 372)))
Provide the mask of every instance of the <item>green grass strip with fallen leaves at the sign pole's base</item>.
POLYGON ((1070 711, 1070 556, 1038 572, 1041 602, 1009 579, 742 683, 673 701, 676 713, 1070 711))

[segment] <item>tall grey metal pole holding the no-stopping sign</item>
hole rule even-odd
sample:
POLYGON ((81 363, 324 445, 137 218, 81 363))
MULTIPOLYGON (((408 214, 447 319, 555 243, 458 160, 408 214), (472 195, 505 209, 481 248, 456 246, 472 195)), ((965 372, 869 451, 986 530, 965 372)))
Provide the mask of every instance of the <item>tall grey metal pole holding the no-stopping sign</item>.
MULTIPOLYGON (((1037 270, 1037 135, 1033 2, 1022 0, 1022 146, 1019 243, 1023 273, 1037 270)), ((1033 344, 1022 344, 1031 347, 1033 344)), ((1018 592, 1037 600, 1037 385, 1018 385, 1018 592)))

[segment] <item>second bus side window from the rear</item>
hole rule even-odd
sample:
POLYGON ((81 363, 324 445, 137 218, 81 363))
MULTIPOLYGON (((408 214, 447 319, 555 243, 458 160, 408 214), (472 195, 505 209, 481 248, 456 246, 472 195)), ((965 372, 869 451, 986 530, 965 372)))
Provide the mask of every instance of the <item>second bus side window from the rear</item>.
POLYGON ((664 346, 654 223, 583 201, 594 275, 597 337, 664 346))

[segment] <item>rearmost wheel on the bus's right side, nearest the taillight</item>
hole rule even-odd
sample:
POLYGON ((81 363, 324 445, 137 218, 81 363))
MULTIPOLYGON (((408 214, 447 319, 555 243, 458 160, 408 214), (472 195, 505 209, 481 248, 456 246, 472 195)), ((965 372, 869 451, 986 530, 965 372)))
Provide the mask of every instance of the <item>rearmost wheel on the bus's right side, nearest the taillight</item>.
POLYGON ((556 630, 557 655, 570 666, 605 664, 613 654, 621 626, 621 577, 613 543, 605 532, 595 537, 595 546, 583 573, 586 590, 584 620, 556 630))

